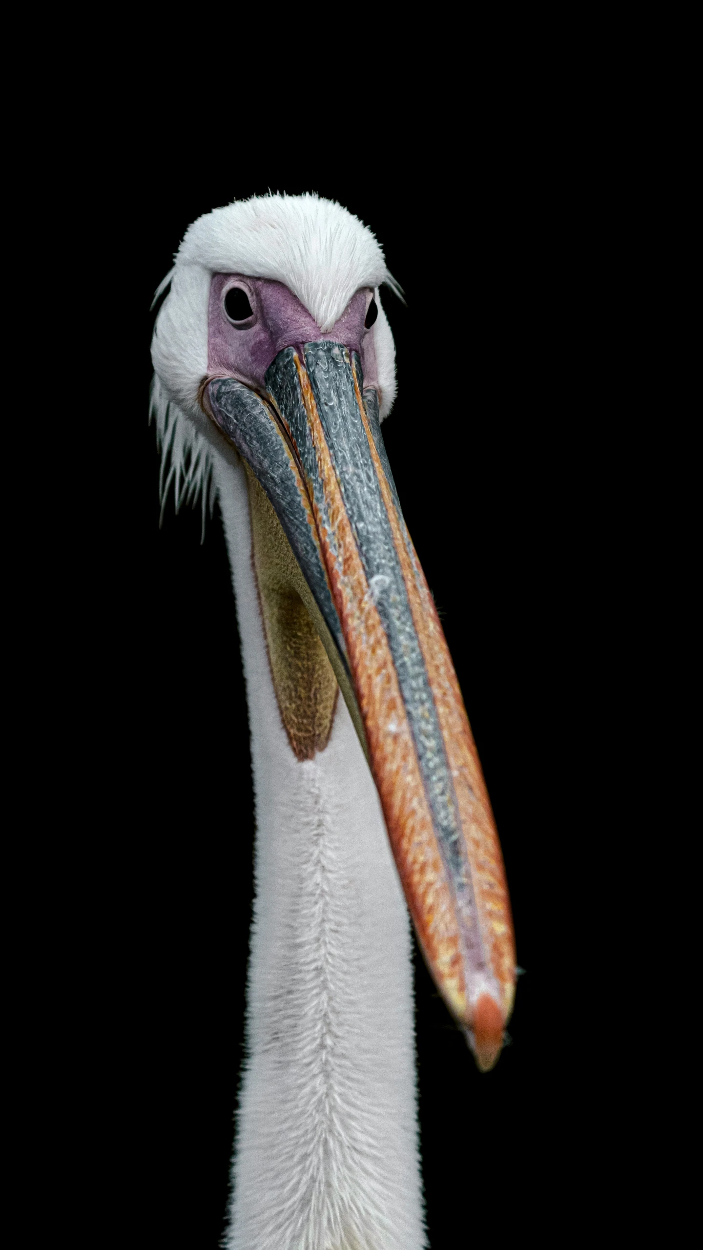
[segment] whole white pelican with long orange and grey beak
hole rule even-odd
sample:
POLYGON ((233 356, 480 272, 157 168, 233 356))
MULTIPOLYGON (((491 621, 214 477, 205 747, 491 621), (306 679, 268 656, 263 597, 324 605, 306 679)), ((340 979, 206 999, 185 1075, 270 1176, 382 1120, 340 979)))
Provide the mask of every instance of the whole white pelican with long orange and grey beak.
MULTIPOLYGON (((228 1250, 427 1245, 409 920, 482 1071, 513 1006, 498 835, 382 438, 395 399, 383 284, 399 294, 339 204, 266 195, 195 221, 156 291, 163 486, 201 492, 204 516, 219 500, 251 731, 228 1250)), ((433 508, 450 441, 422 352, 419 338, 433 508)), ((238 662, 216 621, 200 645, 238 662)))

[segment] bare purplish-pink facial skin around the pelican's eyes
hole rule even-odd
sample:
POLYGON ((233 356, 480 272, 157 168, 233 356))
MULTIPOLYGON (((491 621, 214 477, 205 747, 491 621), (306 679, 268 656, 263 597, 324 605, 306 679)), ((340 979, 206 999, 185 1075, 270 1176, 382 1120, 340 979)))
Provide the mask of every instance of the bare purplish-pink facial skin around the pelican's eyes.
POLYGON ((364 385, 377 385, 373 330, 364 329, 372 291, 357 291, 339 321, 323 334, 315 319, 300 300, 284 286, 265 278, 244 278, 239 274, 214 274, 210 284, 208 311, 208 372, 238 378, 265 390, 266 369, 284 348, 295 348, 301 355, 303 344, 328 339, 358 351, 364 370, 364 385), (239 329, 228 319, 223 295, 230 286, 241 286, 254 310, 253 324, 239 329))

